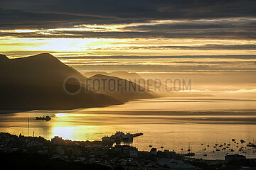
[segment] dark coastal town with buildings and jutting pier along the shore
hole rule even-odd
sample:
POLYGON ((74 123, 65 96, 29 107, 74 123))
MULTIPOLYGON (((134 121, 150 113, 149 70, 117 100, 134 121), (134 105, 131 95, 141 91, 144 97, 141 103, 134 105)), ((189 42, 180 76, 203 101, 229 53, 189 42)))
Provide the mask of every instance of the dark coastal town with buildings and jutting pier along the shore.
POLYGON ((139 135, 143 133, 116 132, 111 137, 102 137, 101 141, 71 141, 58 136, 46 140, 1 132, 0 154, 39 155, 51 162, 80 164, 90 169, 248 169, 256 166, 256 159, 239 154, 227 155, 225 160, 205 160, 190 157, 193 153, 179 154, 154 147, 145 152, 130 145, 120 145, 139 135))

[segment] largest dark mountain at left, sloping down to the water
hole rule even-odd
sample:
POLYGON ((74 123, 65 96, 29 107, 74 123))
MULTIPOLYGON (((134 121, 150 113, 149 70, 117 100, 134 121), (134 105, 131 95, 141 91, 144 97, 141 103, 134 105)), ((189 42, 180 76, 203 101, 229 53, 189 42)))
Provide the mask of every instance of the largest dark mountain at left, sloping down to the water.
POLYGON ((64 110, 122 103, 87 89, 80 84, 86 77, 48 53, 17 59, 0 55, 0 72, 0 110, 64 110))

